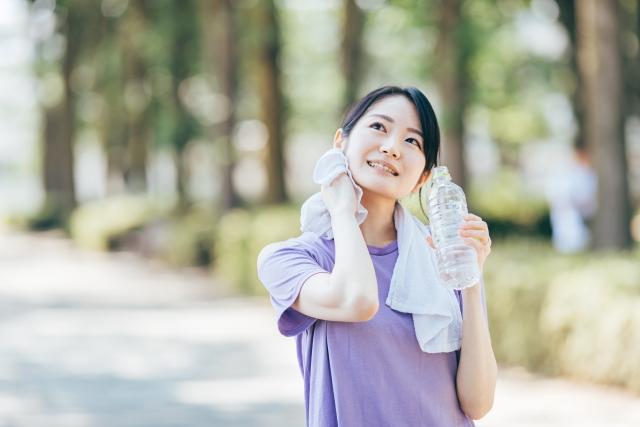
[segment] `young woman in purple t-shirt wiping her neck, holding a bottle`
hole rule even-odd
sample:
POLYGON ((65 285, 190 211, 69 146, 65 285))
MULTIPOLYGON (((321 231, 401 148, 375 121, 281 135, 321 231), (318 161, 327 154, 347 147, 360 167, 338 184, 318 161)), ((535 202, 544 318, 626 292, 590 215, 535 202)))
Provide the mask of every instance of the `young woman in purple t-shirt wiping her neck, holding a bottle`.
MULTIPOLYGON (((343 174, 322 187, 334 239, 304 233, 258 259, 278 328, 296 337, 307 425, 472 426, 493 405, 497 375, 482 283, 456 291, 464 319, 456 352, 423 352, 412 315, 385 305, 398 257, 395 204, 419 192, 436 165, 433 109, 415 88, 383 87, 347 112, 334 147, 363 190, 365 221, 358 226, 343 174)), ((491 251, 486 223, 469 214, 459 234, 482 272, 491 251)))

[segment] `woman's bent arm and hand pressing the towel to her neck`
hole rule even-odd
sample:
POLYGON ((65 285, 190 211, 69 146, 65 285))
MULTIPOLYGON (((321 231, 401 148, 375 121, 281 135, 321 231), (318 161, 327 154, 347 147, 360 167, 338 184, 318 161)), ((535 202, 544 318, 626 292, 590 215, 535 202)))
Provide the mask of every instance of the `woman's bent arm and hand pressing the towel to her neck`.
POLYGON ((364 322, 378 311, 378 282, 367 245, 355 219, 356 198, 346 174, 322 198, 331 215, 335 266, 331 274, 311 276, 292 307, 316 319, 364 322))

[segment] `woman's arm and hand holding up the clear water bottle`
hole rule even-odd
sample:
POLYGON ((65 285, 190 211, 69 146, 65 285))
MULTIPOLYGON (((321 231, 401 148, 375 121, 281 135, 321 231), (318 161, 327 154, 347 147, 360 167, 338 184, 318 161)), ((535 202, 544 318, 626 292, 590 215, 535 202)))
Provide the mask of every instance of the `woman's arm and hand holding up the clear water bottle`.
MULTIPOLYGON (((487 223, 473 214, 463 217, 460 236, 478 252, 480 273, 491 252, 487 223)), ((433 240, 428 237, 433 246, 433 240)), ((498 367, 482 306, 482 288, 476 284, 462 291, 462 346, 456 386, 460 408, 469 418, 484 417, 493 406, 498 367)))

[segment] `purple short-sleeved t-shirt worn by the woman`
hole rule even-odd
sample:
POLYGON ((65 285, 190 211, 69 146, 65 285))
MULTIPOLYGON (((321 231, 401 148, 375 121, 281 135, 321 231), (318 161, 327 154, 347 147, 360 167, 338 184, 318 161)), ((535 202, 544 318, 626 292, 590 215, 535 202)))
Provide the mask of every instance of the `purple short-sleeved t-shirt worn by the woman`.
POLYGON ((423 352, 411 314, 385 304, 397 242, 369 246, 380 308, 359 323, 314 319, 291 308, 309 277, 333 270, 335 246, 313 233, 288 242, 267 256, 258 275, 271 294, 278 329, 296 338, 307 426, 474 425, 456 394, 458 352, 423 352))

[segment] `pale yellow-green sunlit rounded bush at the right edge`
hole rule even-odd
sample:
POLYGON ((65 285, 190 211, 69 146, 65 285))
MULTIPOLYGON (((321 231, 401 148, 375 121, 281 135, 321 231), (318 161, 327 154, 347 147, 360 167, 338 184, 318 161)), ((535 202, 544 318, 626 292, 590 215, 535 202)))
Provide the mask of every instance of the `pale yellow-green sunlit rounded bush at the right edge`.
POLYGON ((640 263, 594 260, 556 277, 540 319, 555 371, 640 392, 640 263))

